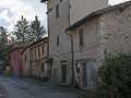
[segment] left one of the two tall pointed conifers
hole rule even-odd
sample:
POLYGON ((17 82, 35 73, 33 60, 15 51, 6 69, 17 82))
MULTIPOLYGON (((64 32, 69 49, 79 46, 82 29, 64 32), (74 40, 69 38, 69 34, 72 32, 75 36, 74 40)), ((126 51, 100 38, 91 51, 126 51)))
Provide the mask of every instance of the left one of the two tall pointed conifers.
POLYGON ((22 19, 17 21, 13 34, 16 37, 16 41, 20 42, 28 42, 32 39, 29 24, 23 15, 22 19))

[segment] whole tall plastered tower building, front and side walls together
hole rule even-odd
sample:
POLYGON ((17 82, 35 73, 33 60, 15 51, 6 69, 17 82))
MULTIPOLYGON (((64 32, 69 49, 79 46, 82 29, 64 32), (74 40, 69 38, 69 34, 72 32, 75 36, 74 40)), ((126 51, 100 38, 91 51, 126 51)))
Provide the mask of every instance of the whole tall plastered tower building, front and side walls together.
POLYGON ((102 0, 100 3, 97 3, 96 0, 41 0, 41 2, 46 1, 48 10, 48 47, 49 64, 52 74, 51 81, 56 84, 71 85, 74 84, 72 38, 66 34, 66 28, 84 16, 85 13, 90 14, 94 10, 105 8, 107 0, 102 0), (83 3, 86 3, 86 7, 83 7, 83 3), (76 8, 75 4, 79 4, 79 7, 76 8), (88 5, 92 5, 90 10, 87 8, 88 5), (79 10, 79 12, 75 12, 75 10, 79 10), (81 11, 84 12, 81 13, 81 11))

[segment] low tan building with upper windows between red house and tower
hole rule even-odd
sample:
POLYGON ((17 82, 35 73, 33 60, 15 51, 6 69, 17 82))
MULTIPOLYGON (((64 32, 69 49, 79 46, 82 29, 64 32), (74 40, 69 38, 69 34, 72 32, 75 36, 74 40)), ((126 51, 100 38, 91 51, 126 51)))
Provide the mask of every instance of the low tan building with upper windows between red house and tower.
POLYGON ((50 68, 47 65, 48 38, 45 37, 27 46, 23 51, 24 75, 48 78, 50 68))

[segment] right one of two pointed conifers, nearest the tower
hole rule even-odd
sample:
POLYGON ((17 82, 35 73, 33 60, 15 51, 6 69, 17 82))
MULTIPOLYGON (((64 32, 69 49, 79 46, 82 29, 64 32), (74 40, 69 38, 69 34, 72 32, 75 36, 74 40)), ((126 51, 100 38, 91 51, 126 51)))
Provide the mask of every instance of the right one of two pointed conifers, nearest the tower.
POLYGON ((46 34, 44 26, 40 25, 40 21, 37 15, 35 16, 35 21, 31 23, 32 35, 34 36, 34 40, 38 40, 46 34))

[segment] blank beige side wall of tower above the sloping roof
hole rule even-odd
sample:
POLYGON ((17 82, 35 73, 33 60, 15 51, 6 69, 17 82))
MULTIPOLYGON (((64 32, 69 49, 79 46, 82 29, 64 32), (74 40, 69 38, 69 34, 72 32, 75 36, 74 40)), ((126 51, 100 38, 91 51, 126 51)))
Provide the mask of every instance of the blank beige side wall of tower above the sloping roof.
POLYGON ((108 7, 108 0, 70 0, 70 24, 74 24, 94 11, 108 7))

